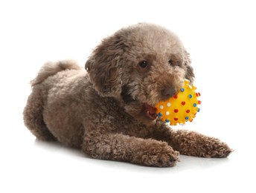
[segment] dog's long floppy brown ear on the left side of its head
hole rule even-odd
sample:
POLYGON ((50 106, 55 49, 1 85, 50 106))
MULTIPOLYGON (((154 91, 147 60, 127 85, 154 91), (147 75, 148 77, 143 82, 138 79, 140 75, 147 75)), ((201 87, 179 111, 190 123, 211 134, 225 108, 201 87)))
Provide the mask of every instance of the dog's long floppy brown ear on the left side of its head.
POLYGON ((121 39, 110 36, 103 39, 86 62, 95 90, 102 96, 121 96, 121 58, 124 53, 121 39))

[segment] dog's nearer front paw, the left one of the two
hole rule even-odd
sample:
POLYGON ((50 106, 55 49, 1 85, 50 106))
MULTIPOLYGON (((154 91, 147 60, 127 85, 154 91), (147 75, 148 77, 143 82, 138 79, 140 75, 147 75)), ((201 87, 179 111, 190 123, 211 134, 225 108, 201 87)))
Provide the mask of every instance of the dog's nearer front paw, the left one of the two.
POLYGON ((167 143, 150 146, 142 156, 142 165, 156 167, 176 166, 179 152, 174 151, 167 143))

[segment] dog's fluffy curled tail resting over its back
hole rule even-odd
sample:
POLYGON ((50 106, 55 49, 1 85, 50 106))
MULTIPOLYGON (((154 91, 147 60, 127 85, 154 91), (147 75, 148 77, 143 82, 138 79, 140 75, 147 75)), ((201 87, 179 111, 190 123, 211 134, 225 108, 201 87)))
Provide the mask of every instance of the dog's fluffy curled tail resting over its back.
POLYGON ((73 60, 63 60, 59 62, 46 62, 42 66, 36 78, 31 81, 31 85, 34 86, 47 79, 49 76, 65 71, 65 70, 80 70, 80 66, 73 60))

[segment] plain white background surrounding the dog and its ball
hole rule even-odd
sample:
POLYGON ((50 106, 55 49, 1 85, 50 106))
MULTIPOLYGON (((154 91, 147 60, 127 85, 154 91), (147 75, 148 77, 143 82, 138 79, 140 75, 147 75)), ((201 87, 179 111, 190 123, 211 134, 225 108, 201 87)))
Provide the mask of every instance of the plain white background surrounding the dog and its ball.
POLYGON ((0 192, 256 192, 255 8, 246 0, 0 1, 0 192), (228 143, 227 159, 181 156, 163 169, 92 160, 23 125, 29 81, 44 62, 83 65, 101 39, 138 22, 182 39, 202 94, 202 111, 182 128, 228 143))

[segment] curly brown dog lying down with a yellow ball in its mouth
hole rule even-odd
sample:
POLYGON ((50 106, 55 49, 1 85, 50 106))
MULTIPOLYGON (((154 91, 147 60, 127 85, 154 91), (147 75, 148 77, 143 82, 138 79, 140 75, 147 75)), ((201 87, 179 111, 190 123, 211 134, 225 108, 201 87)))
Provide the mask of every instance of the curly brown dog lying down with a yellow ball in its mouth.
POLYGON ((169 30, 154 24, 118 30, 95 48, 86 71, 72 61, 48 62, 39 71, 24 110, 25 125, 38 139, 144 166, 175 166, 179 153, 231 153, 216 138, 171 130, 157 119, 156 102, 194 77, 188 52, 169 30))

